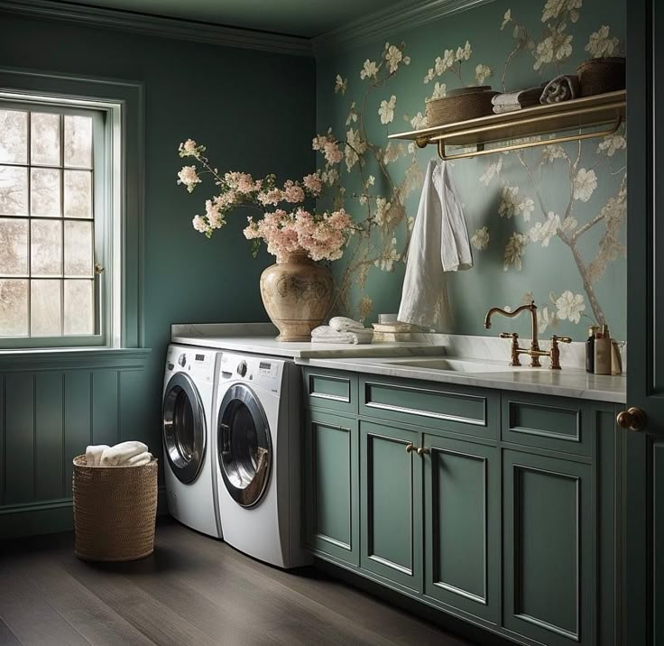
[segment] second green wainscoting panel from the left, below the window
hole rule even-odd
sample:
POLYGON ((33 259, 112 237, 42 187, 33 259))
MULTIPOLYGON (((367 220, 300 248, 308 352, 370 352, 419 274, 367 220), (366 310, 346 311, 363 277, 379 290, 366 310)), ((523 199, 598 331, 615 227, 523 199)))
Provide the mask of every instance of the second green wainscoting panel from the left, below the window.
POLYGON ((65 495, 64 456, 65 380, 59 373, 35 374, 34 441, 35 498, 65 495))

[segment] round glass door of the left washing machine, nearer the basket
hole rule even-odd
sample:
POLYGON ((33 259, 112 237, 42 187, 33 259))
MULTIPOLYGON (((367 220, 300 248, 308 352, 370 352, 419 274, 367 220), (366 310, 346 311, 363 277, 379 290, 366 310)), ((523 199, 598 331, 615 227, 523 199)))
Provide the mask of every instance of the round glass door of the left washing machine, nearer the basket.
POLYGON ((203 402, 189 374, 173 374, 163 395, 163 444, 172 472, 184 484, 198 477, 208 429, 203 402))

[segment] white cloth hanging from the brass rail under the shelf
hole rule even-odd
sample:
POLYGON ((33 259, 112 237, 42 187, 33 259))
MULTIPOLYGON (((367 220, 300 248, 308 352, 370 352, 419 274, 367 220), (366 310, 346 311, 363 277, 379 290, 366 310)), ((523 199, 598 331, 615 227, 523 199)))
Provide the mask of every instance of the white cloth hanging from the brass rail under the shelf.
POLYGON ((451 319, 444 272, 473 266, 473 253, 457 187, 442 160, 431 160, 415 219, 398 319, 440 328, 451 319))

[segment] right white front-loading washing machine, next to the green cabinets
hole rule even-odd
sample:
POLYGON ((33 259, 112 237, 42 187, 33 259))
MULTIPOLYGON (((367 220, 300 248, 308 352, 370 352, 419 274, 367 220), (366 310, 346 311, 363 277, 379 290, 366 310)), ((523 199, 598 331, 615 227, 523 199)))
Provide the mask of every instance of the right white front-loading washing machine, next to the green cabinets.
POLYGON ((225 352, 217 382, 224 540, 280 568, 307 565, 300 540, 300 371, 283 359, 225 352))

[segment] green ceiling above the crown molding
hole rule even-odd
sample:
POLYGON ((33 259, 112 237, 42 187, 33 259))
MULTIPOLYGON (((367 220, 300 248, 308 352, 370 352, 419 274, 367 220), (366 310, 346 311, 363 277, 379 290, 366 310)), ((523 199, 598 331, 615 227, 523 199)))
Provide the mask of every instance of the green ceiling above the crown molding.
POLYGON ((183 18, 314 38, 403 0, 68 0, 76 5, 183 18))

